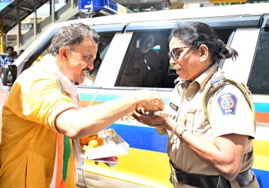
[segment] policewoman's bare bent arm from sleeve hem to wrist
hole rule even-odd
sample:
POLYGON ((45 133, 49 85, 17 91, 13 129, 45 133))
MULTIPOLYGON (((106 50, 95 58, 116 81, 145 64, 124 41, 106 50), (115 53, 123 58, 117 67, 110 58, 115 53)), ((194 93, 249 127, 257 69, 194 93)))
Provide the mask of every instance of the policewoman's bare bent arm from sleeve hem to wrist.
MULTIPOLYGON (((183 129, 181 131, 179 129, 177 128, 175 131, 178 136, 183 131, 183 129)), ((239 174, 248 136, 227 134, 214 138, 213 143, 210 143, 185 131, 182 139, 188 148, 223 177, 234 179, 239 174)))

